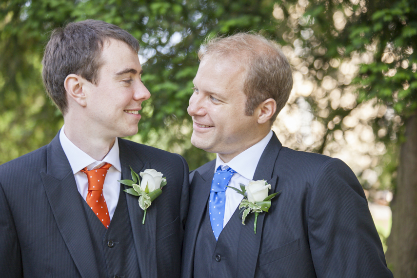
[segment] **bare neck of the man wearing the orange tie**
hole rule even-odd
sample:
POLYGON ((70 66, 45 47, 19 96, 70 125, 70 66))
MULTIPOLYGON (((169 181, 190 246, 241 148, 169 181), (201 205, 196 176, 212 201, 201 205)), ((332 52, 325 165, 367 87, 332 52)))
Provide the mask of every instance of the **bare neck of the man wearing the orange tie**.
POLYGON ((64 133, 66 137, 84 153, 101 161, 113 147, 116 138, 103 138, 95 132, 84 132, 90 130, 82 128, 79 123, 65 121, 64 133))

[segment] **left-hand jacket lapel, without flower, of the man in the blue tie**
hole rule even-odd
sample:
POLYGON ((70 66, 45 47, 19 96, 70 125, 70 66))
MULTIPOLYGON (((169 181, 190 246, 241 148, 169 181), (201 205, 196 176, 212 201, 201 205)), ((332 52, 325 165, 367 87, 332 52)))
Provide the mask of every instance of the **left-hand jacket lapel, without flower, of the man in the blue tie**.
POLYGON ((214 175, 214 168, 216 160, 210 161, 206 164, 206 169, 200 173, 195 172, 191 181, 190 189, 190 210, 188 211, 188 218, 185 224, 185 238, 183 250, 183 272, 182 277, 192 277, 194 267, 194 250, 196 247, 197 236, 206 205, 210 196, 211 182, 214 175))

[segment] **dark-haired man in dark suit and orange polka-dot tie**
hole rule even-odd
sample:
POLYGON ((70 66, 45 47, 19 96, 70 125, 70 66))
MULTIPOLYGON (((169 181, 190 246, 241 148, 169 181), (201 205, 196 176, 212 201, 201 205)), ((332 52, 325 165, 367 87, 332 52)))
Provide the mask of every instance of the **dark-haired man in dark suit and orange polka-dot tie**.
POLYGON ((179 277, 188 165, 119 138, 138 132, 150 97, 138 50, 132 35, 103 21, 52 33, 42 76, 65 124, 48 145, 0 166, 7 277, 179 277), (119 183, 131 169, 143 177, 142 201, 166 182, 158 198, 149 194, 151 206, 123 191, 132 193, 119 183))

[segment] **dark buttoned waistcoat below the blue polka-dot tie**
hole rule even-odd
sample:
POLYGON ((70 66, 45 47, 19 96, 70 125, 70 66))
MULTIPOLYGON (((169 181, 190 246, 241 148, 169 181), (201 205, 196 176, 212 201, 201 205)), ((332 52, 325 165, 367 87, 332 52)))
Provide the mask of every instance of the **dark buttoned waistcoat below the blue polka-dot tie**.
POLYGON ((239 218, 239 210, 236 209, 216 241, 211 228, 209 206, 206 205, 194 254, 194 278, 236 277, 241 226, 242 220, 239 218))

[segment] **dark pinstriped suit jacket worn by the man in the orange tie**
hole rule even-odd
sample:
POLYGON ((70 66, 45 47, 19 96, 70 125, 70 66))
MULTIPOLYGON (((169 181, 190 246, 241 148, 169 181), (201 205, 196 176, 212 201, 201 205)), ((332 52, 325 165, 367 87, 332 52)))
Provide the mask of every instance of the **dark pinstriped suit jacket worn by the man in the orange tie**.
MULTIPOLYGON (((179 155, 119 139, 121 179, 156 169, 167 179, 147 210, 126 194, 143 278, 178 277, 188 211, 188 165, 179 155)), ((124 186, 124 185, 121 185, 124 186)), ((122 193, 120 193, 122 194, 122 193)), ((80 196, 59 135, 0 165, 0 273, 7 277, 99 277, 80 196)))

